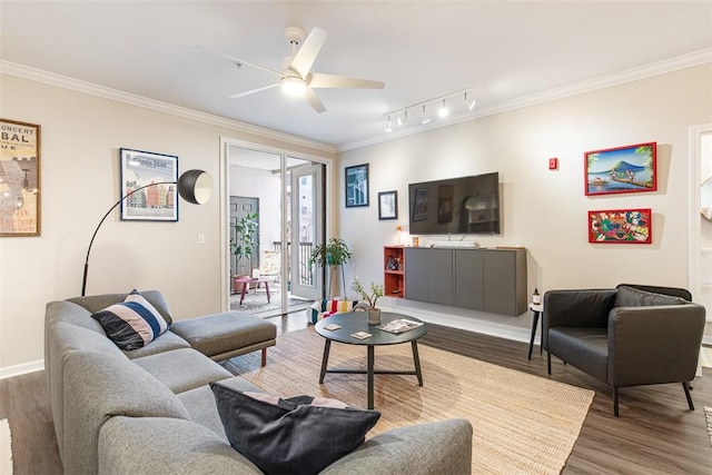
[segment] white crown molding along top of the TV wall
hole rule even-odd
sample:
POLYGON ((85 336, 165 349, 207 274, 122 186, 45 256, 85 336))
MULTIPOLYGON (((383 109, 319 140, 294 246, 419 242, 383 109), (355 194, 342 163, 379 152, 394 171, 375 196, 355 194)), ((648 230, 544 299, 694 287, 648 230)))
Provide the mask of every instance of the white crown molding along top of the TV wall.
POLYGON ((366 139, 337 147, 336 151, 337 154, 340 154, 348 150, 355 150, 358 148, 383 144, 416 133, 422 133, 428 130, 441 129, 443 127, 453 126, 455 123, 466 122, 487 116, 494 116, 496 113, 507 112, 515 109, 522 109, 543 102, 550 102, 571 96, 577 96, 599 89, 605 89, 625 82, 633 82, 653 76, 678 71, 681 69, 693 68, 695 66, 705 65, 708 62, 712 62, 712 48, 690 52, 662 61, 652 62, 650 65, 639 66, 636 68, 626 69, 624 71, 615 72, 612 75, 600 76, 597 78, 574 82, 561 88, 550 89, 546 91, 523 96, 521 98, 506 100, 490 106, 475 107, 472 112, 462 115, 459 117, 453 117, 447 121, 432 121, 426 126, 394 130, 388 135, 383 135, 372 139, 366 139))

